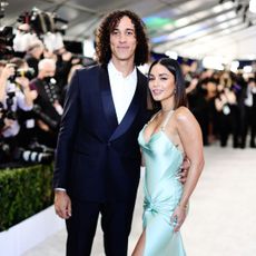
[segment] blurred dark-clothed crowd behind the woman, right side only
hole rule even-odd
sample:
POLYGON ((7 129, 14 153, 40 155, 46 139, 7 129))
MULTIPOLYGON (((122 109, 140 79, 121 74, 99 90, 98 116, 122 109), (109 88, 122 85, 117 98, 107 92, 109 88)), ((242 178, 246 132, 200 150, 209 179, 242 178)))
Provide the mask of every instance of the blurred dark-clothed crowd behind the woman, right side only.
POLYGON ((184 65, 189 108, 200 124, 204 145, 256 148, 256 75, 204 70, 191 73, 184 65))

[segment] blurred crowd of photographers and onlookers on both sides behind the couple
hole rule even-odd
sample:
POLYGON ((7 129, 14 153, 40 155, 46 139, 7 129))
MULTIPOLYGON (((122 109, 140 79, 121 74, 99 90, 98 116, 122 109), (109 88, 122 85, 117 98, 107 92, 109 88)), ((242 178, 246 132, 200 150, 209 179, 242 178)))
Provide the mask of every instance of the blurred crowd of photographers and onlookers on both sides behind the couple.
MULTIPOLYGON (((85 66, 57 36, 42 40, 20 24, 13 55, 0 59, 1 164, 52 160, 67 86, 73 70, 85 66)), ((204 145, 219 141, 226 147, 230 136, 234 148, 255 148, 256 75, 245 79, 230 71, 197 72, 186 62, 181 68, 204 145)))

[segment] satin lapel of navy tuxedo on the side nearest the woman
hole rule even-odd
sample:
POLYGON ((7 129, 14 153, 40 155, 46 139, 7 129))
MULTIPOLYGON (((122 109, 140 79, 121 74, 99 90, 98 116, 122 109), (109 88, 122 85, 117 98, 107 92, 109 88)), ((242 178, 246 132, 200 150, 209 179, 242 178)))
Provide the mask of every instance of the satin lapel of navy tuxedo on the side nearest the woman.
POLYGON ((121 122, 119 124, 119 126, 117 127, 115 132, 112 134, 110 140, 117 139, 118 137, 120 137, 122 134, 125 134, 130 128, 140 106, 144 104, 142 102, 142 99, 144 99, 142 93, 145 92, 145 90, 144 90, 144 83, 145 83, 144 75, 141 75, 140 71, 137 70, 137 77, 138 77, 138 81, 137 81, 134 98, 130 102, 130 106, 129 106, 125 117, 122 118, 121 122))

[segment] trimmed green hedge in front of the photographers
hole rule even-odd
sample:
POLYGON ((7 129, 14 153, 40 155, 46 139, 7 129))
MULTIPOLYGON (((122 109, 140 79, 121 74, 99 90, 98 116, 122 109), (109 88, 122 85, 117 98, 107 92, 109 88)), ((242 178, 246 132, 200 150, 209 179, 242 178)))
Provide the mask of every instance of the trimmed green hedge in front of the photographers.
POLYGON ((0 232, 52 204, 52 165, 0 170, 0 232))

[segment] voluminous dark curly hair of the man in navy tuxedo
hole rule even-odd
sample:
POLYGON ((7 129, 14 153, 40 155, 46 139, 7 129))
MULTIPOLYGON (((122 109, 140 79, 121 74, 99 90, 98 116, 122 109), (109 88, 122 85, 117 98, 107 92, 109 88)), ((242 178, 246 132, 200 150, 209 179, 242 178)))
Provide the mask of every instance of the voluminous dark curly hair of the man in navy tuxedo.
POLYGON ((142 20, 132 11, 118 10, 105 17, 96 33, 96 53, 98 62, 107 65, 111 59, 110 33, 115 30, 122 17, 128 17, 135 26, 137 47, 135 65, 140 66, 149 60, 148 37, 142 20), (138 40, 139 39, 139 40, 138 40))

